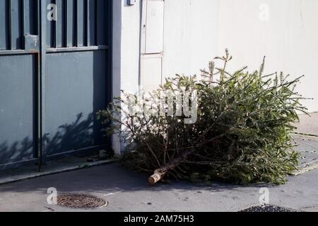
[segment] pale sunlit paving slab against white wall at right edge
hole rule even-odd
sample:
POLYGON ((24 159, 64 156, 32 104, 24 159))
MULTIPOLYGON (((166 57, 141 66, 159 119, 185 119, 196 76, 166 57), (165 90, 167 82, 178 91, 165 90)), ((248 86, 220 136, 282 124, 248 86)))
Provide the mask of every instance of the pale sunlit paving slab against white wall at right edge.
POLYGON ((318 113, 300 115, 300 122, 295 124, 295 133, 318 136, 318 113))

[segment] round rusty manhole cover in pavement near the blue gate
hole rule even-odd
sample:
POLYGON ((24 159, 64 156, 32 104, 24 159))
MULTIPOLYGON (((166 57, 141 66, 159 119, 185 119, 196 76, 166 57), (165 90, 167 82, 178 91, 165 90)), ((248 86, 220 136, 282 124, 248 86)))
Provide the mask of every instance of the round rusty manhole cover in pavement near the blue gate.
POLYGON ((86 194, 62 194, 57 196, 57 205, 66 208, 93 209, 107 206, 107 201, 86 194))

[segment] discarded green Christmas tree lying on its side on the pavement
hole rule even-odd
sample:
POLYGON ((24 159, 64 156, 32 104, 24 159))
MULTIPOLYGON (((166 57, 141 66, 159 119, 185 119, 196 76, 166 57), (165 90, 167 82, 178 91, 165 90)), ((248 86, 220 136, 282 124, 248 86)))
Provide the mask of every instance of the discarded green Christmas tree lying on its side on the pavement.
POLYGON ((247 67, 230 73, 228 51, 216 59, 223 66, 211 62, 200 79, 175 76, 141 98, 123 93, 98 113, 105 124, 112 122, 107 135, 119 133, 126 143, 122 161, 153 174, 150 184, 164 177, 284 183, 298 166, 290 133, 298 112, 306 111, 300 104, 303 98, 295 93, 301 77, 288 81, 283 73, 264 75, 264 62, 253 73, 247 67), (162 98, 163 93, 167 97, 162 98), (179 93, 190 95, 182 95, 182 106, 168 105, 179 93), (193 123, 185 123, 187 114, 167 114, 188 105, 196 107, 193 123), (131 111, 134 107, 143 110, 131 111))

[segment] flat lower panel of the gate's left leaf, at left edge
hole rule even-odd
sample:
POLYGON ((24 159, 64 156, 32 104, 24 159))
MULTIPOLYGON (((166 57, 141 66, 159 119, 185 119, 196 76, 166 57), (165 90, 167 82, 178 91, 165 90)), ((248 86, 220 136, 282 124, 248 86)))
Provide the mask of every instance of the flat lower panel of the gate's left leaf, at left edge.
POLYGON ((33 55, 0 57, 0 165, 35 157, 35 64, 33 55))

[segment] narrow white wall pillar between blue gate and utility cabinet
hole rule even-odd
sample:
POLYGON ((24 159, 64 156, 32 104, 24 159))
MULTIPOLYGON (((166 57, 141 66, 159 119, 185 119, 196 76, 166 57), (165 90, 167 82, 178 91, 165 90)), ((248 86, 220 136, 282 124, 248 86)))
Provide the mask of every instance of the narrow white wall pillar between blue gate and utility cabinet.
MULTIPOLYGON (((139 88, 140 1, 127 6, 126 0, 113 0, 112 90, 135 93, 139 88)), ((121 153, 123 144, 113 136, 114 152, 121 153)))

